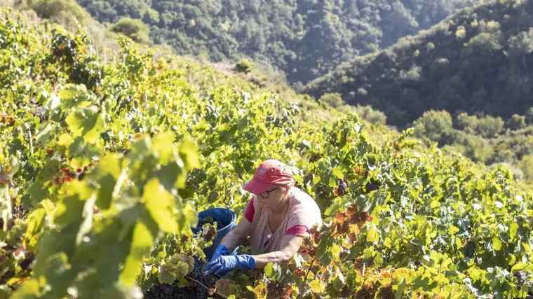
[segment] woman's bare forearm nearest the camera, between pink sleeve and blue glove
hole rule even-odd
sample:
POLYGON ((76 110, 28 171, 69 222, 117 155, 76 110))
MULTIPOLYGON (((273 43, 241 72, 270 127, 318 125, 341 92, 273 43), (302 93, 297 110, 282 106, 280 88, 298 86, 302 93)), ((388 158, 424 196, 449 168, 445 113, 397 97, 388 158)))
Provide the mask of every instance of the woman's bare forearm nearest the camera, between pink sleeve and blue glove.
POLYGON ((255 258, 255 268, 262 269, 270 262, 278 263, 280 265, 288 265, 290 259, 295 256, 300 246, 302 246, 303 241, 303 237, 297 235, 285 235, 283 239, 281 239, 281 250, 253 256, 253 258, 255 258))

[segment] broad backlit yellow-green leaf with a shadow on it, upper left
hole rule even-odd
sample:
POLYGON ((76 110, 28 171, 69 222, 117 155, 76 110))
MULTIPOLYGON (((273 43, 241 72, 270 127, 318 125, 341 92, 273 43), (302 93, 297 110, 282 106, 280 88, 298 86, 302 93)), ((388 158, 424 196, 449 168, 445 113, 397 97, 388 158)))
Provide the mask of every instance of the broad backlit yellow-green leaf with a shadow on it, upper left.
POLYGON ((83 137, 89 144, 95 144, 104 132, 104 118, 101 113, 87 107, 80 107, 65 120, 75 137, 83 137))

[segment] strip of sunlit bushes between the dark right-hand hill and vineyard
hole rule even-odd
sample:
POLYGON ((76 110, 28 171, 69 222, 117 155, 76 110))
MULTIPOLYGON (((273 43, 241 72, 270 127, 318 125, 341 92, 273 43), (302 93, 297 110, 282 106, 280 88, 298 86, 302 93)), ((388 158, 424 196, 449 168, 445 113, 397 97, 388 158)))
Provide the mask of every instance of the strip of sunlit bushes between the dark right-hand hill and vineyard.
POLYGON ((533 123, 514 115, 506 123, 499 117, 452 117, 447 111, 427 111, 414 121, 414 135, 437 142, 450 154, 461 153, 485 165, 506 164, 518 179, 532 184, 533 123))

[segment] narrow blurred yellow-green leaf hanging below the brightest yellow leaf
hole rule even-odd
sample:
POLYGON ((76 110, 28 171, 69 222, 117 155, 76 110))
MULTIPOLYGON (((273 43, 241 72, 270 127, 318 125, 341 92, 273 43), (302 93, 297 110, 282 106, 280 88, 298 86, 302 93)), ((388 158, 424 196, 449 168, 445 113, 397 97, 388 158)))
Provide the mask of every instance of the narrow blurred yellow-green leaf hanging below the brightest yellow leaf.
POLYGON ((121 272, 121 281, 126 286, 133 286, 135 277, 139 273, 144 256, 150 252, 153 244, 153 236, 147 226, 142 221, 137 221, 133 229, 133 238, 131 241, 130 254, 126 258, 124 268, 121 272))

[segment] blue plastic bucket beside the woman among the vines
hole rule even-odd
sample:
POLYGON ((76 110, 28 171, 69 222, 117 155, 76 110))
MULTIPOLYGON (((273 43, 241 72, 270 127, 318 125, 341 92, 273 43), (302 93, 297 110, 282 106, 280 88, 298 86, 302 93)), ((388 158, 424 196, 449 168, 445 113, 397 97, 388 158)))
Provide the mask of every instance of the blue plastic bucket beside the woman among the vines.
MULTIPOLYGON (((211 208, 198 213, 198 222, 206 217, 212 217, 217 222, 217 236, 212 240, 212 245, 203 249, 205 258, 210 260, 222 238, 237 225, 237 214, 228 208, 211 208)), ((196 229, 196 228, 194 228, 196 229)), ((194 230, 193 230, 194 231, 194 230)), ((236 254, 237 249, 231 254, 236 254)))

